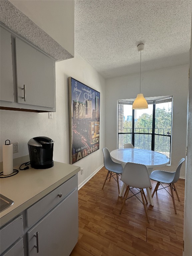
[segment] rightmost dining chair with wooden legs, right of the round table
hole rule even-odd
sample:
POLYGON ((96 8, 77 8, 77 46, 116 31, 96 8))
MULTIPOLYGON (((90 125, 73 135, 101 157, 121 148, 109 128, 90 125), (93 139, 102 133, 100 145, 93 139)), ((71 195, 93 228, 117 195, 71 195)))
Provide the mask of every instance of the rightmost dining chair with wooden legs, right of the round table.
POLYGON ((180 176, 180 170, 181 170, 181 165, 182 163, 185 161, 185 158, 182 158, 180 161, 179 161, 179 164, 177 166, 177 169, 175 172, 167 172, 167 171, 162 171, 162 170, 155 170, 153 171, 151 174, 150 174, 150 179, 151 180, 154 180, 154 181, 157 181, 157 184, 155 186, 155 189, 153 191, 153 194, 152 194, 152 197, 154 196, 155 192, 157 192, 157 190, 159 190, 159 185, 161 185, 162 188, 164 188, 166 190, 167 187, 170 187, 171 189, 171 194, 170 196, 172 197, 172 200, 173 200, 173 206, 174 206, 174 210, 175 210, 175 213, 177 213, 177 210, 176 210, 176 205, 175 205, 175 199, 174 199, 174 194, 173 194, 173 190, 175 190, 175 193, 177 195, 177 198, 178 198, 178 201, 180 201, 179 199, 179 195, 177 193, 177 189, 175 187, 175 183, 178 181, 179 179, 179 176, 180 176), (164 187, 162 184, 169 184, 169 186, 167 187, 164 187))

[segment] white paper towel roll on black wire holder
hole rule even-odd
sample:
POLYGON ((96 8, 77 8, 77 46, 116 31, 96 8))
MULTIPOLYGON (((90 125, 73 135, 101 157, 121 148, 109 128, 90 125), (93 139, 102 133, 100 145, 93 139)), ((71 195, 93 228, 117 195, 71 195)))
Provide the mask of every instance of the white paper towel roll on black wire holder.
POLYGON ((6 144, 5 141, 5 145, 3 145, 3 175, 11 173, 13 173, 13 144, 6 144))

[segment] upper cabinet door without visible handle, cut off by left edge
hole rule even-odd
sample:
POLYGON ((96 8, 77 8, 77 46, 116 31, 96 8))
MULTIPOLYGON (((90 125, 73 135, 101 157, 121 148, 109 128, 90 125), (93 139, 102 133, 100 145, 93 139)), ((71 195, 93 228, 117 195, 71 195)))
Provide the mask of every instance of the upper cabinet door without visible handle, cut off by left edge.
POLYGON ((11 34, 0 27, 0 100, 14 101, 11 34))

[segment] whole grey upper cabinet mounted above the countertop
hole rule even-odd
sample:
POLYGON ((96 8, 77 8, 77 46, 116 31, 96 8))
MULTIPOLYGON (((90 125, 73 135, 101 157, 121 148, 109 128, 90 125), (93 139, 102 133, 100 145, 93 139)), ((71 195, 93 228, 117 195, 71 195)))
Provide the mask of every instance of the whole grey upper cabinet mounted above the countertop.
POLYGON ((0 109, 55 112, 55 59, 1 24, 0 109))

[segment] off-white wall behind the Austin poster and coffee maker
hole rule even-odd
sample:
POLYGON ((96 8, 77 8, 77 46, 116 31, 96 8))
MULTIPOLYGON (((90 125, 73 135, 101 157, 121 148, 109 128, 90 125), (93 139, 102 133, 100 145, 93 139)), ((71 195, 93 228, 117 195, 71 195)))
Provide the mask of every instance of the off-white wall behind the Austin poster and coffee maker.
POLYGON ((84 168, 79 184, 103 165, 102 148, 105 146, 105 79, 78 54, 75 58, 56 63, 56 112, 53 119, 48 113, 0 110, 0 158, 5 140, 19 142, 19 153, 14 158, 28 155, 27 142, 36 136, 47 136, 55 141, 53 160, 69 163, 68 77, 81 81, 100 92, 100 149, 75 163, 84 168))

